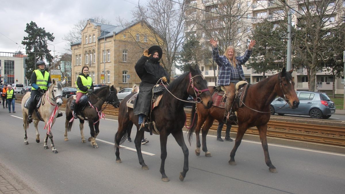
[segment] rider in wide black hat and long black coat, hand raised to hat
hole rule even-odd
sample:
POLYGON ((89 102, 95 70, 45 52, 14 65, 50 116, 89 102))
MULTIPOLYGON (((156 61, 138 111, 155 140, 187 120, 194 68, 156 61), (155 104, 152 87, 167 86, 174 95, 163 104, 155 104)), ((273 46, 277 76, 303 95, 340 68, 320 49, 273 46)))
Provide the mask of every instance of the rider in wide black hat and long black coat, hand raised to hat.
POLYGON ((134 114, 139 115, 140 129, 148 127, 148 123, 143 124, 143 121, 150 111, 152 88, 159 79, 162 79, 165 83, 170 81, 168 72, 159 65, 162 53, 159 46, 152 46, 144 50, 144 55, 135 64, 135 70, 141 79, 139 94, 134 101, 134 114))

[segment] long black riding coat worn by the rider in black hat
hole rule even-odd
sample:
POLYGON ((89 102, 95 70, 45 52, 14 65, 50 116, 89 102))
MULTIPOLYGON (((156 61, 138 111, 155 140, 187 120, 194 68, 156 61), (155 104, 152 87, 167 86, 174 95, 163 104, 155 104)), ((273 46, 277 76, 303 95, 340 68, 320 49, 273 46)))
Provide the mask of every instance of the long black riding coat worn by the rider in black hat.
POLYGON ((145 56, 142 56, 135 64, 135 71, 141 79, 141 83, 138 97, 134 101, 134 114, 148 115, 151 106, 152 88, 161 77, 166 77, 167 83, 169 83, 168 72, 159 65, 159 62, 155 63, 145 56))

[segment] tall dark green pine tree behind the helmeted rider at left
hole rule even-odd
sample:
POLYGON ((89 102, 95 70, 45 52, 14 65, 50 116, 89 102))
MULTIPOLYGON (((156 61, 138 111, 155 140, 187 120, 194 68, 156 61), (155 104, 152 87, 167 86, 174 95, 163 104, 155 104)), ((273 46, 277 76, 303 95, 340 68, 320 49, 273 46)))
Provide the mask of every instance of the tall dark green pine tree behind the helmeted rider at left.
POLYGON ((37 60, 45 59, 50 66, 53 56, 49 53, 47 41, 53 41, 55 37, 53 37, 53 33, 46 32, 45 28, 39 28, 33 21, 26 24, 24 31, 28 33, 28 36, 24 37, 22 41, 22 45, 26 45, 25 50, 28 54, 28 58, 25 59, 27 64, 25 76, 30 81, 31 74, 36 69, 37 60))

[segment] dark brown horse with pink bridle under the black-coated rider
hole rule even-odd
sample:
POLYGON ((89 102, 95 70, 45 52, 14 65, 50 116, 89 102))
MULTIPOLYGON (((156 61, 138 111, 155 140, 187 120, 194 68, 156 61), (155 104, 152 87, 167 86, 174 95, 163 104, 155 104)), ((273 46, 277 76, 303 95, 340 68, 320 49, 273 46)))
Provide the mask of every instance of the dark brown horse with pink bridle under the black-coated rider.
MULTIPOLYGON (((148 170, 149 168, 145 164, 141 154, 141 139, 144 136, 144 130, 139 130, 138 115, 134 115, 133 109, 127 107, 127 101, 134 94, 135 93, 129 94, 120 103, 118 117, 119 126, 115 134, 116 162, 121 163, 119 145, 126 140, 128 129, 131 130, 134 124, 137 127, 134 143, 137 149, 139 164, 141 164, 142 169, 148 170)), ((150 114, 150 118, 155 122, 160 135, 161 165, 159 171, 162 175, 161 179, 164 182, 169 181, 169 178, 165 174, 164 166, 167 157, 167 139, 170 134, 174 136, 184 154, 183 172, 179 175, 180 181, 184 180, 188 171, 189 152, 182 131, 186 120, 186 113, 183 108, 184 101, 180 99, 187 100, 189 95, 197 98, 200 102, 200 106, 203 106, 203 108, 210 108, 213 103, 211 94, 207 89, 207 82, 198 68, 193 69, 190 67, 189 72, 175 79, 167 89, 163 91, 159 105, 155 107, 150 114), (171 94, 169 92, 171 92, 171 94)))

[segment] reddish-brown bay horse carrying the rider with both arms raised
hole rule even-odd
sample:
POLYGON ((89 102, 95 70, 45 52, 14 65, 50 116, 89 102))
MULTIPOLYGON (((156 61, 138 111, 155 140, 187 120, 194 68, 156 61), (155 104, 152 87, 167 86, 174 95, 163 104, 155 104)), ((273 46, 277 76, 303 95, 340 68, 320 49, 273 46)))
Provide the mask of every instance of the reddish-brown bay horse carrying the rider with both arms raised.
MULTIPOLYGON (((236 135, 235 145, 230 153, 230 165, 236 165, 235 153, 238 146, 241 144, 242 138, 246 130, 250 127, 256 126, 259 130, 259 136, 264 149, 265 162, 269 167, 269 171, 276 173, 276 167, 273 166, 267 146, 267 123, 271 116, 269 105, 278 95, 286 100, 291 108, 297 108, 299 104, 298 97, 294 89, 294 81, 291 73, 293 70, 286 72, 285 67, 278 74, 272 75, 256 84, 249 85, 244 105, 237 110, 238 118, 238 131, 236 135)), ((213 86, 209 87, 211 93, 213 93, 213 86)), ((192 109, 195 108, 195 105, 192 109)), ((224 108, 212 106, 209 109, 205 109, 202 106, 197 105, 197 124, 188 130, 188 138, 190 139, 195 130, 196 134, 196 150, 195 154, 200 155, 200 129, 204 124, 202 130, 203 139, 203 151, 205 156, 211 157, 211 153, 208 152, 206 146, 206 135, 209 128, 212 126, 213 121, 216 119, 218 122, 223 122, 224 108)), ((193 114, 192 118, 193 119, 193 114)))

